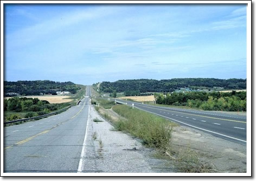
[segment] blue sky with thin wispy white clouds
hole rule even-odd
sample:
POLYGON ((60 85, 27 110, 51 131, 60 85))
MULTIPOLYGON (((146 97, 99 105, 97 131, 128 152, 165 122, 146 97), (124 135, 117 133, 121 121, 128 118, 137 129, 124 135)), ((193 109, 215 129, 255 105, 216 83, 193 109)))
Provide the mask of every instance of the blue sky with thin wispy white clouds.
POLYGON ((246 4, 5 5, 4 79, 246 78, 246 4))

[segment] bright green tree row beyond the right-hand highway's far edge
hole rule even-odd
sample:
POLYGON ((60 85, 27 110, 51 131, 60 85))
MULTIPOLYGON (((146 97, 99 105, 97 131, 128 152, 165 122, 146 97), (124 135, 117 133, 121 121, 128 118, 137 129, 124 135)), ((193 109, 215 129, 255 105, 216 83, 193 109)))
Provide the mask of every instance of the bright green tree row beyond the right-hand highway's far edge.
POLYGON ((189 106, 208 111, 246 111, 246 92, 155 93, 157 104, 189 106))

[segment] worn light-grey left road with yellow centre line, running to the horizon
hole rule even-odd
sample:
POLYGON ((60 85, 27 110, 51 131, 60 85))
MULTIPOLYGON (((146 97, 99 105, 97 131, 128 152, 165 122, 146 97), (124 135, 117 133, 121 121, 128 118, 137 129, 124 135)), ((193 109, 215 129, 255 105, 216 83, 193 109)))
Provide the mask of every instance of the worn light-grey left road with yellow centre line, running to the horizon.
POLYGON ((91 87, 67 111, 4 128, 4 172, 80 172, 91 87))

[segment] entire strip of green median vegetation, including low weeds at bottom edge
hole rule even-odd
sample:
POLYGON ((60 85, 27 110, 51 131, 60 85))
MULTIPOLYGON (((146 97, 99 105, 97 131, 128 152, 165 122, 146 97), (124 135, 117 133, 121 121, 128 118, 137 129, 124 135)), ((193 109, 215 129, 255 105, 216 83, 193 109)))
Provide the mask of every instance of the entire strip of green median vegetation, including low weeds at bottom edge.
POLYGON ((191 150, 189 145, 180 150, 174 149, 171 134, 173 128, 178 126, 176 123, 126 105, 112 106, 112 110, 119 115, 114 120, 112 114, 102 111, 106 105, 104 102, 101 103, 103 104, 99 107, 95 106, 95 109, 103 118, 111 122, 114 127, 111 131, 123 131, 139 138, 146 147, 157 151, 155 157, 169 160, 177 172, 219 172, 213 164, 201 161, 199 154, 191 150))

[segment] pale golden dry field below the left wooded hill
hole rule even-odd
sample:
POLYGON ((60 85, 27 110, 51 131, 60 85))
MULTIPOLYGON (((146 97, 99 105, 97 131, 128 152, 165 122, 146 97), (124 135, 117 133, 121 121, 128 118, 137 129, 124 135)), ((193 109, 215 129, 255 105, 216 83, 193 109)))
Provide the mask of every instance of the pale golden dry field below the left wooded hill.
MULTIPOLYGON (((48 102, 50 102, 50 104, 60 104, 60 103, 64 103, 64 102, 70 102, 73 101, 73 99, 68 99, 70 98, 70 96, 68 95, 31 95, 31 96, 24 96, 25 98, 38 98, 39 100, 46 100, 48 102)), ((10 99, 8 98, 4 98, 4 99, 10 99)))

